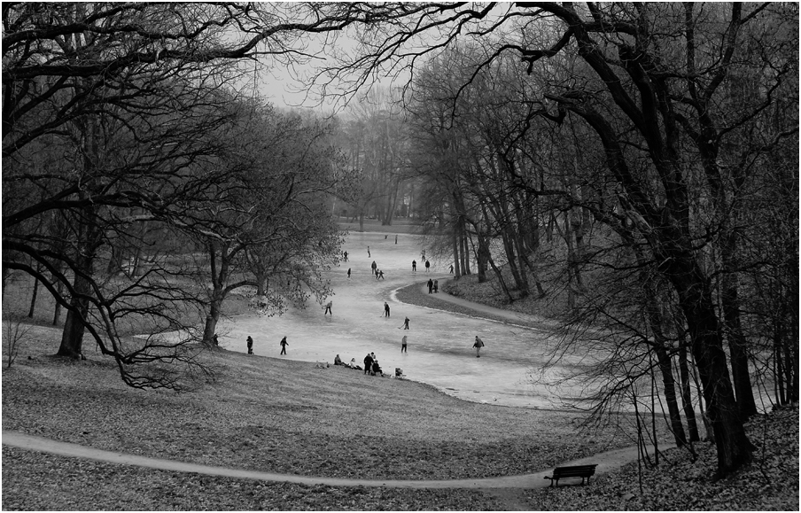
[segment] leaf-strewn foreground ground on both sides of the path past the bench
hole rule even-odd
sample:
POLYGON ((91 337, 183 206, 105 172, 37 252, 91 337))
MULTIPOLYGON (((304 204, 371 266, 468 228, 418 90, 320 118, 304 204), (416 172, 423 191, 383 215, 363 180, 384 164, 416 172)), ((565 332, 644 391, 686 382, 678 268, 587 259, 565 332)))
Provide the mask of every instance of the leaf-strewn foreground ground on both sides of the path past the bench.
MULTIPOLYGON (((338 478, 522 474, 632 445, 626 417, 581 431, 579 414, 471 403, 406 380, 227 351, 205 354, 216 380, 197 392, 134 390, 97 354, 88 361, 47 356, 59 337, 58 330, 34 327, 11 369, 4 354, 5 430, 183 462, 338 478)), ((787 411, 781 422, 749 426, 759 450, 756 467, 742 477, 712 482, 714 453, 702 445, 695 465, 673 455, 668 459, 680 466, 663 464, 644 476, 642 494, 636 465, 591 486, 499 493, 210 478, 4 447, 2 507, 797 509, 798 418, 797 409, 787 411)))

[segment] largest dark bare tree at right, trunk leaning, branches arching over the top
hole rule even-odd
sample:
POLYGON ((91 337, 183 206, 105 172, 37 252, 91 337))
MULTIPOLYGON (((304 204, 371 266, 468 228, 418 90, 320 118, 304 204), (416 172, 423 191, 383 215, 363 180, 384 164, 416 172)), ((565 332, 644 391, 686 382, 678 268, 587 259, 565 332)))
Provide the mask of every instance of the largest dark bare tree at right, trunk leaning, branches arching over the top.
MULTIPOLYGON (((416 4, 416 12, 403 19, 364 27, 362 53, 334 74, 320 76, 352 72, 348 90, 377 69, 414 73, 427 56, 469 39, 484 43, 487 51, 462 90, 504 54, 517 55, 529 74, 546 77, 535 100, 540 116, 556 123, 569 117, 589 128, 603 147, 603 194, 614 198, 618 216, 634 223, 638 244, 671 285, 703 385, 719 472, 726 474, 750 461, 742 416, 750 411, 751 390, 736 319, 726 313, 738 310, 733 294, 738 284, 723 284, 721 290, 731 293, 721 302, 728 303, 721 318, 711 280, 715 271, 707 266, 712 250, 736 250, 736 241, 726 235, 732 218, 719 217, 711 226, 705 215, 733 212, 721 207, 733 205, 738 188, 723 200, 710 181, 731 178, 736 184, 737 167, 725 167, 732 174, 721 175, 720 162, 745 156, 727 143, 758 127, 761 113, 774 105, 774 91, 797 73, 793 54, 746 54, 743 43, 767 49, 775 41, 775 49, 789 48, 797 45, 795 25, 797 9, 767 4, 716 4, 703 12, 679 4, 416 4), (765 27, 781 37, 772 40, 765 27), (426 37, 428 44, 417 44, 426 37), (561 66, 570 74, 548 81, 561 66), (748 84, 757 94, 747 108, 727 111, 724 98, 731 95, 722 88, 749 67, 770 71, 748 84), (704 208, 704 199, 715 194, 712 207, 704 208), (729 355, 738 369, 735 386, 729 355)), ((792 127, 774 139, 795 134, 792 127)), ((721 271, 728 275, 726 269, 737 268, 736 261, 724 261, 721 271)))

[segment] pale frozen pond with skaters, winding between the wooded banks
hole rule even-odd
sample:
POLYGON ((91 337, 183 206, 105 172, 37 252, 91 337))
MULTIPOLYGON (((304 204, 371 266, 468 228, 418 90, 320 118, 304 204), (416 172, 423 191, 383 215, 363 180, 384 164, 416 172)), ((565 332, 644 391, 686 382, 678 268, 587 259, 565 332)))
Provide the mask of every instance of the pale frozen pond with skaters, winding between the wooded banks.
MULTIPOLYGON (((432 260, 431 272, 426 273, 420 260, 421 238, 399 234, 395 244, 394 237, 376 232, 347 237, 343 249, 348 261, 331 270, 333 315, 323 315, 323 307, 312 302, 305 310, 290 309, 281 316, 221 320, 217 331, 222 345, 245 353, 245 338, 250 335, 257 355, 332 364, 339 354, 343 361, 355 358, 362 367, 364 356, 373 352, 385 373, 394 374, 400 367, 409 379, 465 400, 558 408, 555 391, 532 380, 532 372, 539 376, 548 334, 401 303, 394 291, 408 284, 422 287, 430 277, 441 282, 449 277, 449 264, 440 266, 432 260), (372 275, 373 260, 385 279, 372 275), (416 272, 412 260, 417 260, 416 272), (389 318, 384 316, 385 301, 391 308, 389 318), (402 329, 405 316, 410 319, 409 330, 402 329), (407 354, 400 353, 403 335, 408 336, 407 354), (476 335, 486 344, 480 358, 472 348, 476 335), (278 343, 284 336, 289 342, 287 354, 279 355, 278 343)), ((574 396, 579 391, 561 393, 574 396)))

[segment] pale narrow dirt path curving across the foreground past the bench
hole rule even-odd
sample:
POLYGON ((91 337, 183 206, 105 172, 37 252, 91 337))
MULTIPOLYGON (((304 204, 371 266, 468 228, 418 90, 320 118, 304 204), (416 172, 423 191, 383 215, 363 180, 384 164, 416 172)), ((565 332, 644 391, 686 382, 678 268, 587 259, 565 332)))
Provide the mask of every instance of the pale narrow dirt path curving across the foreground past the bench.
MULTIPOLYGON (((257 479, 261 481, 278 481, 295 483, 300 485, 326 485, 326 486, 384 486, 388 488, 481 488, 487 490, 495 489, 521 489, 521 488, 543 488, 548 486, 550 481, 545 476, 550 474, 550 469, 542 470, 533 474, 521 476, 504 476, 501 478, 480 478, 480 479, 448 479, 448 480, 392 480, 392 479, 341 479, 341 478, 317 478, 308 476, 296 476, 292 474, 275 474, 271 472, 260 472, 257 470, 229 469, 226 467, 214 467, 188 462, 176 462, 173 460, 162 460, 139 455, 127 455, 113 451, 105 451, 93 447, 80 446, 78 444, 60 442, 54 439, 45 439, 34 435, 27 435, 19 431, 3 431, 3 444, 10 447, 19 447, 31 451, 51 453, 55 455, 71 456, 75 458, 85 458, 99 462, 110 462, 121 465, 136 465, 157 470, 172 470, 177 472, 192 472, 209 476, 223 476, 228 478, 257 479)), ((667 446, 662 447, 667 448, 667 446)), ((564 462, 563 465, 579 465, 587 463, 597 463, 597 473, 609 472, 616 469, 626 462, 635 461, 637 458, 636 447, 627 447, 601 453, 599 455, 564 462)), ((504 494, 498 490, 499 494, 504 494)))

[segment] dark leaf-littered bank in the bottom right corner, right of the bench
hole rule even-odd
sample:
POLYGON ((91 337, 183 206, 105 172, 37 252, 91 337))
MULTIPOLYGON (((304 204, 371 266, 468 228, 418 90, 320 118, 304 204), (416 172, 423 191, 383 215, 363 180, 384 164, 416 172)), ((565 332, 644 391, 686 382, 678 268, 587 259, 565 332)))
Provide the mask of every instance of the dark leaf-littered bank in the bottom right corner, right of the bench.
POLYGON ((714 447, 702 443, 696 462, 688 451, 667 451, 657 468, 642 471, 642 486, 631 464, 591 486, 524 494, 540 510, 797 511, 798 408, 758 416, 746 429, 757 446, 754 461, 728 478, 715 478, 714 447))

